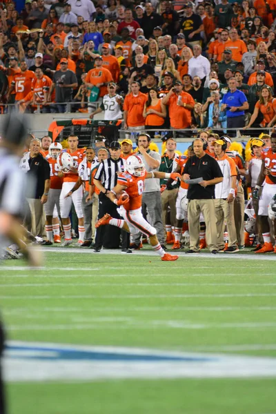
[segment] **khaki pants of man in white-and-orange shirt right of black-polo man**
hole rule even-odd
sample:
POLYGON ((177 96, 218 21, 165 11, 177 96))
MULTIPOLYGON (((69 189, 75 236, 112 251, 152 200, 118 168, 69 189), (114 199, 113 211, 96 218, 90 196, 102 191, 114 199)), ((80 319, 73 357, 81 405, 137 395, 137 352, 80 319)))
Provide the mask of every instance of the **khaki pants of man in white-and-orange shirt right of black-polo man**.
POLYGON ((228 231, 228 247, 237 246, 237 233, 234 218, 234 201, 228 203, 224 199, 215 199, 215 214, 217 218, 217 242, 219 250, 224 248, 224 227, 228 231))

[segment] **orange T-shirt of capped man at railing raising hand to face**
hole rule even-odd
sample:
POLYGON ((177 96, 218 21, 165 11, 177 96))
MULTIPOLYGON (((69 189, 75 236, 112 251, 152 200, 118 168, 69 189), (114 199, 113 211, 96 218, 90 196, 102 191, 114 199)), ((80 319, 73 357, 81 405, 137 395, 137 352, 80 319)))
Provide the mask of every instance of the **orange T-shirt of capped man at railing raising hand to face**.
MULTIPOLYGON (((183 103, 195 106, 195 101, 189 93, 182 91, 180 96, 183 103)), ((192 123, 192 115, 190 110, 184 108, 184 106, 177 105, 177 99, 178 96, 174 93, 168 101, 170 126, 177 129, 189 128, 192 123)))

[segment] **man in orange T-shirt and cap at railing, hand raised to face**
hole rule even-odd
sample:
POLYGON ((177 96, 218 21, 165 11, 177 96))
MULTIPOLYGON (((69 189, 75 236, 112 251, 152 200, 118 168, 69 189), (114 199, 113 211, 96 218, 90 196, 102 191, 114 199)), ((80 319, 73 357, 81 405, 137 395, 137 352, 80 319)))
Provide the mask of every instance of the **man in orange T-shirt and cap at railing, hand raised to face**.
POLYGON ((192 123, 190 112, 195 106, 195 101, 190 94, 183 92, 182 88, 182 83, 176 81, 175 86, 162 99, 162 103, 168 105, 172 129, 190 128, 192 123))

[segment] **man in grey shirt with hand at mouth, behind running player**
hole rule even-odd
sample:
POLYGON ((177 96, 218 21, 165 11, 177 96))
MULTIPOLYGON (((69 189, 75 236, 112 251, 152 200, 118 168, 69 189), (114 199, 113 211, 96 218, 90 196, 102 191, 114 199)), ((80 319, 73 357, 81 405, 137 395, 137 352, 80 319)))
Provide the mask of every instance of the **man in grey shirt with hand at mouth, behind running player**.
MULTIPOLYGON (((161 164, 161 157, 158 152, 150 150, 150 136, 141 134, 137 138, 137 146, 139 156, 144 162, 146 171, 158 171, 161 164)), ((144 191, 142 195, 142 212, 146 217, 148 211, 148 219, 153 227, 157 230, 157 237, 161 246, 165 244, 164 226, 162 223, 162 206, 159 179, 150 178, 144 182, 144 191)), ((133 248, 141 246, 141 233, 135 233, 132 237, 133 248)))

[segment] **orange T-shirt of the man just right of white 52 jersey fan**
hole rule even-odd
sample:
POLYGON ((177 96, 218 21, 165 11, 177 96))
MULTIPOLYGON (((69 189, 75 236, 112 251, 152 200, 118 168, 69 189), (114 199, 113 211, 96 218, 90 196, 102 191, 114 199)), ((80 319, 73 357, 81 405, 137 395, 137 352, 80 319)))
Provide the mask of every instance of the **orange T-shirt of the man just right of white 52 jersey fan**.
POLYGON ((143 117, 144 105, 148 100, 147 95, 139 92, 137 97, 132 93, 126 95, 124 101, 124 110, 128 111, 128 118, 126 120, 128 126, 144 126, 145 118, 143 117))

